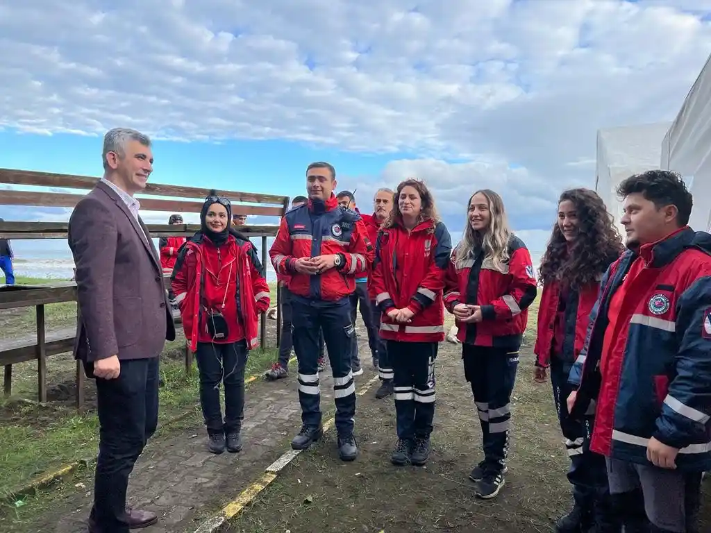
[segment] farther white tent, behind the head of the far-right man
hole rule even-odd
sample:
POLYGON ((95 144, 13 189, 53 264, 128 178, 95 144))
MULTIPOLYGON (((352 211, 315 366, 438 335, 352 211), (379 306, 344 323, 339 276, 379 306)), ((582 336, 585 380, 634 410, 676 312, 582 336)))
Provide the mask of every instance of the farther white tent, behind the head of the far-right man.
POLYGON ((659 168, 661 145, 668 122, 620 126, 597 131, 597 181, 595 190, 604 200, 607 210, 619 224, 622 203, 615 189, 625 178, 653 168, 659 168))

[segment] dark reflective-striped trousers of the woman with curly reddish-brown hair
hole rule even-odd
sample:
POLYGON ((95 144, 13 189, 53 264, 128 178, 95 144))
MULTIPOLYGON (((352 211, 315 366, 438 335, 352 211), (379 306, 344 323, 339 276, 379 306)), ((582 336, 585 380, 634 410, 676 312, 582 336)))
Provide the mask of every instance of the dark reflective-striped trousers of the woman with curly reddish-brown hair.
POLYGON ((387 341, 398 438, 427 438, 434 419, 434 360, 439 343, 387 341))

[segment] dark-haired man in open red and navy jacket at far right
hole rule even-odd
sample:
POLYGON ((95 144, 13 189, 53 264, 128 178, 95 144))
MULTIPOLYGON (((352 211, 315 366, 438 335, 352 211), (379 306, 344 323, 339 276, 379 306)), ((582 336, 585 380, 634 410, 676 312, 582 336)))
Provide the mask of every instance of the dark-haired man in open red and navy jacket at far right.
POLYGON ((568 411, 595 402, 590 449, 626 533, 693 532, 711 466, 711 235, 688 227, 677 173, 630 176, 617 194, 628 250, 600 282, 568 411))

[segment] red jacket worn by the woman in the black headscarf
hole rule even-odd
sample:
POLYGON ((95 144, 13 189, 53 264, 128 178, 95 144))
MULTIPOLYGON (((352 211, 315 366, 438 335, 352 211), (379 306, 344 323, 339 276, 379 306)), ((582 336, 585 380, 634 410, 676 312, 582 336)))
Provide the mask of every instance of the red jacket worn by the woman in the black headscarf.
POLYGON ((178 255, 171 286, 191 350, 198 343, 236 343, 255 348, 260 313, 269 308, 269 285, 257 251, 247 237, 230 232, 216 247, 202 233, 186 242, 178 255), (219 311, 228 323, 227 338, 214 340, 207 329, 208 312, 219 311))

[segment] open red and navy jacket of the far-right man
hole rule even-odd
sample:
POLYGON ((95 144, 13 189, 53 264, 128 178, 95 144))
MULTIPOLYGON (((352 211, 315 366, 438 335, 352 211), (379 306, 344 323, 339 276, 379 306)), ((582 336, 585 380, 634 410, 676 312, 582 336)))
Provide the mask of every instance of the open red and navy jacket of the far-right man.
POLYGON ((711 235, 684 227, 610 266, 568 380, 572 416, 597 401, 593 451, 648 465, 654 437, 680 470, 711 469, 711 235))

